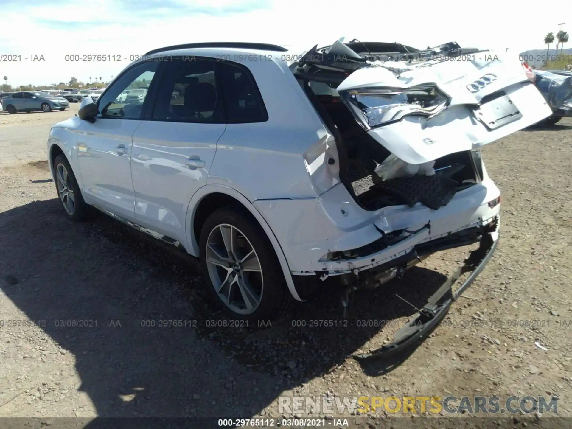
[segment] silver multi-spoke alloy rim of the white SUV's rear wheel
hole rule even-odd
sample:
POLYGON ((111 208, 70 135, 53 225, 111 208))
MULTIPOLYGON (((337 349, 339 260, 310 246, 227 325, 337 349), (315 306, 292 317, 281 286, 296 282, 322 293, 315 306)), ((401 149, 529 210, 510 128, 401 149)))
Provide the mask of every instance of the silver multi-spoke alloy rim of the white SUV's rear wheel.
POLYGON ((258 255, 238 228, 220 224, 206 240, 206 267, 219 298, 235 313, 248 315, 260 305, 264 279, 258 255))

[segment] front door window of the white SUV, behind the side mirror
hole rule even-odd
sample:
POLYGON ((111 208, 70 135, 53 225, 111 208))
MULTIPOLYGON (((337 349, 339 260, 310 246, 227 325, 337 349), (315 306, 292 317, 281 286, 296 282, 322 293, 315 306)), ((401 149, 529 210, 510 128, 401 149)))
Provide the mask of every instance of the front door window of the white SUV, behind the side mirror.
POLYGON ((140 86, 148 86, 160 62, 158 61, 145 61, 140 63, 118 78, 113 82, 113 85, 108 90, 97 90, 94 94, 103 94, 98 98, 98 108, 100 114, 98 118, 117 118, 117 119, 139 119, 145 97, 134 97, 125 101, 118 102, 117 96, 127 88, 139 88, 140 86))

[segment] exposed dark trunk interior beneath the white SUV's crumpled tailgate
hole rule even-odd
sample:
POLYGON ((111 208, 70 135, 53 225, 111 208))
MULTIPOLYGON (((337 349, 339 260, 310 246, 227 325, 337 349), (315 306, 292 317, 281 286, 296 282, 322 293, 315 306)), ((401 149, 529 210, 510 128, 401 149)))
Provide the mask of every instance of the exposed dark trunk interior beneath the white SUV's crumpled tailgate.
POLYGON ((340 164, 347 164, 340 165, 340 179, 362 208, 378 210, 422 202, 436 210, 447 205, 456 192, 480 180, 471 152, 463 151, 435 160, 434 176, 417 175, 383 181, 374 169, 391 153, 358 124, 335 90, 332 93, 335 95, 308 96, 328 128, 331 129, 333 124, 337 127, 336 141, 341 137, 341 149, 345 152, 340 154, 340 164))

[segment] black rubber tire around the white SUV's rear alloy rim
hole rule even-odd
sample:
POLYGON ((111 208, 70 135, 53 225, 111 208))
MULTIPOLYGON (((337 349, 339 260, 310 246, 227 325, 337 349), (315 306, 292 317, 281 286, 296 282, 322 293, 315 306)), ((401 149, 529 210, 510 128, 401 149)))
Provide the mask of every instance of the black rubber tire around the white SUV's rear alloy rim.
MULTIPOLYGON (((242 235, 239 235, 239 237, 242 235)), ((264 230, 247 210, 240 207, 228 206, 213 212, 202 226, 199 245, 201 254, 200 264, 206 283, 207 295, 213 303, 216 303, 219 308, 223 309, 229 317, 253 322, 276 320, 288 307, 292 296, 288 291, 284 273, 282 272, 274 248, 264 230), (259 304, 254 311, 248 314, 236 312, 225 304, 223 299, 216 292, 215 285, 210 278, 209 268, 206 263, 206 244, 210 233, 221 224, 232 225, 232 227, 238 229, 239 232, 246 237, 259 260, 263 288, 261 289, 259 304)), ((256 275, 258 276, 258 274, 256 275)), ((240 293, 236 285, 235 293, 240 293)))

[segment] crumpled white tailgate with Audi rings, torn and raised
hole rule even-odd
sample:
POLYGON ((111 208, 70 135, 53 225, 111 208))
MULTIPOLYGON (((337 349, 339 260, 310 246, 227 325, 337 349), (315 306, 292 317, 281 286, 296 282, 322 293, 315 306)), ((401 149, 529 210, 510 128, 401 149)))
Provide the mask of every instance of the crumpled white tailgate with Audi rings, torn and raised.
POLYGON ((396 43, 362 43, 359 53, 347 45, 360 43, 314 46, 295 74, 335 88, 362 128, 407 164, 479 148, 553 114, 513 54, 454 42, 405 53, 370 51, 396 43))

